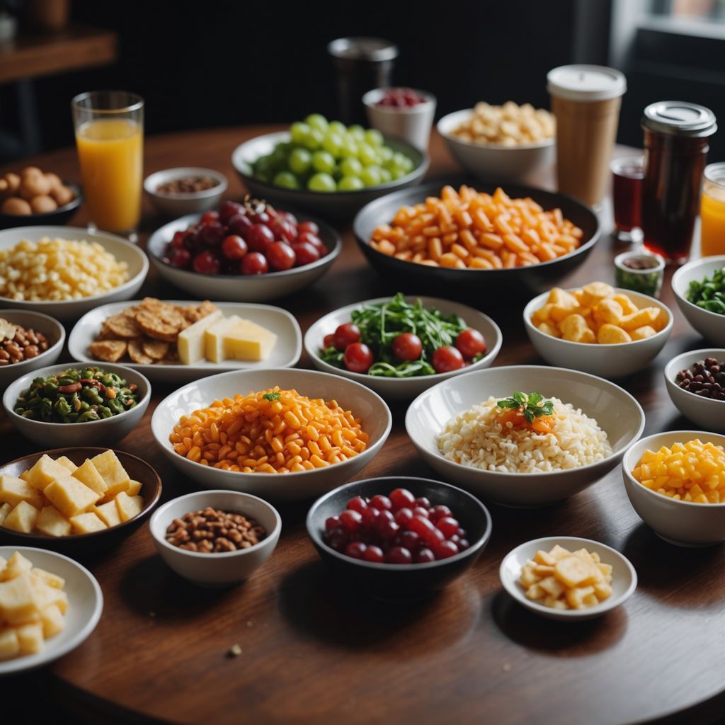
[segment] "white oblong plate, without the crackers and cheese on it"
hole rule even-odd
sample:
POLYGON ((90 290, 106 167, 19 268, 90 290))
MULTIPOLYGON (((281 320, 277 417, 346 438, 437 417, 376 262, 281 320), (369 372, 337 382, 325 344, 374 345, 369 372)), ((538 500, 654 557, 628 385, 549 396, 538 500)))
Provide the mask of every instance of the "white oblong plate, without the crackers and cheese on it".
MULTIPOLYGON (((192 303, 188 300, 169 299, 164 300, 171 305, 183 305, 188 307, 192 303)), ((112 305, 96 307, 86 315, 83 315, 68 337, 68 352, 74 360, 83 363, 101 364, 88 355, 88 345, 96 339, 101 330, 104 320, 117 315, 127 307, 138 305, 141 300, 129 300, 128 302, 115 302, 112 305)), ((230 370, 261 370, 263 368, 291 368, 297 364, 299 355, 302 353, 302 331, 299 329, 297 320, 281 307, 271 305, 256 305, 252 302, 215 302, 214 303, 225 315, 239 315, 241 318, 252 320, 252 322, 267 328, 277 336, 277 344, 267 360, 260 360, 259 363, 246 362, 244 360, 225 360, 223 363, 210 363, 204 360, 196 365, 138 365, 138 363, 118 363, 125 367, 133 368, 152 381, 169 383, 183 383, 198 380, 216 373, 227 373, 230 370)))

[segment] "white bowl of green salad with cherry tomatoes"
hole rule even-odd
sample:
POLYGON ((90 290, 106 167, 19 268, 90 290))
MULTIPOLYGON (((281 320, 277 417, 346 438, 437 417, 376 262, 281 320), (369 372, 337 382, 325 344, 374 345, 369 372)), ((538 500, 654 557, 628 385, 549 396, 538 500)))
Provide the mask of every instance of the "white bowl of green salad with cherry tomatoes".
POLYGON ((488 368, 501 343, 500 328, 483 312, 402 293, 340 307, 305 335, 315 368, 386 400, 410 400, 446 378, 488 368))

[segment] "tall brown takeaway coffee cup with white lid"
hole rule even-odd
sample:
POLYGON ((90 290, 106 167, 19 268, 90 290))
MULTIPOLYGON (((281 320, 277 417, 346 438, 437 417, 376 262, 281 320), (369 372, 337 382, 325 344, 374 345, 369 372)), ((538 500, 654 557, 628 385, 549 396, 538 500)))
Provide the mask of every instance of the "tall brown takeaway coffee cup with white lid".
POLYGON ((547 74, 556 116, 558 190, 601 204, 617 137, 624 74, 602 65, 562 65, 547 74))

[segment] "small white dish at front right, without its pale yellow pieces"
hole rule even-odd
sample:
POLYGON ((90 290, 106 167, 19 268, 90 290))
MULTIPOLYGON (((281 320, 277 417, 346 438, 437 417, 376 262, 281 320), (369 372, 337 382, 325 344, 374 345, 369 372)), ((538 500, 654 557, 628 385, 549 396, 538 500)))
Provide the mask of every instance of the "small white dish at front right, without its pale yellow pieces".
POLYGON ((637 571, 634 571, 634 566, 631 565, 626 556, 606 544, 600 544, 600 542, 592 541, 592 539, 580 539, 579 537, 544 537, 520 544, 503 558, 499 568, 499 576, 503 588, 519 604, 534 613, 540 614, 542 617, 556 619, 560 622, 581 622, 586 619, 600 617, 602 614, 606 614, 624 604, 634 593, 634 589, 637 589, 637 571), (552 609, 526 597, 521 584, 518 583, 523 565, 529 559, 533 559, 540 549, 549 551, 557 544, 569 551, 586 549, 590 554, 597 553, 602 563, 612 566, 612 594, 608 599, 600 602, 595 607, 587 609, 552 609))

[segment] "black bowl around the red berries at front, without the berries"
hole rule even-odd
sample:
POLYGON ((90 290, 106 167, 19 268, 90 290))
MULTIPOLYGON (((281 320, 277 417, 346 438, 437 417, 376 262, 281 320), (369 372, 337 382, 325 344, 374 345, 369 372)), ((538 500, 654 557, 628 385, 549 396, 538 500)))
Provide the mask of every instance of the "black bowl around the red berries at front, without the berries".
POLYGON ((323 561, 350 584, 386 600, 420 599, 445 587, 476 563, 491 538, 491 529, 491 515, 476 497, 441 481, 408 476, 353 481, 320 497, 307 513, 307 533, 323 561), (387 495, 398 487, 408 489, 415 497, 428 497, 432 505, 448 506, 468 534, 471 546, 428 564, 375 564, 345 556, 323 541, 326 519, 344 511, 350 499, 387 495))

